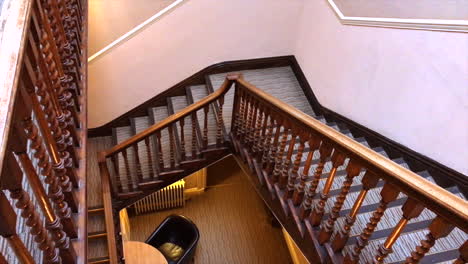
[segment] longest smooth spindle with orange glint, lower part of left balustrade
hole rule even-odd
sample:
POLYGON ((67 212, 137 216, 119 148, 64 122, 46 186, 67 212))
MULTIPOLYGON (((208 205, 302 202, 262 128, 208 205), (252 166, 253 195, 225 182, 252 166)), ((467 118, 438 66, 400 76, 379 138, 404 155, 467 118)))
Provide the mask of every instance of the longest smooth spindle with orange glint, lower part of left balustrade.
MULTIPOLYGON (((46 228, 52 235, 52 239, 55 242, 55 246, 60 250, 59 252, 62 261, 64 263, 76 262, 76 253, 70 242, 70 238, 64 232, 63 225, 60 222, 60 218, 58 218, 55 214, 55 211, 53 210, 49 200, 46 199, 46 191, 42 186, 41 180, 39 179, 39 176, 37 175, 31 160, 29 159, 26 153, 20 154, 19 160, 21 162, 21 166, 25 170, 25 175, 29 180, 29 184, 31 185, 32 190, 34 191, 34 194, 36 195, 36 197, 40 197, 37 199, 37 201, 41 206, 42 211, 44 212, 44 216, 46 217, 46 228)), ((50 180, 55 181, 53 179, 50 180)), ((46 179, 46 183, 49 182, 49 179, 46 179)), ((52 182, 52 184, 57 185, 56 182, 52 182)), ((51 186, 52 184, 50 184, 49 186, 51 186)), ((56 195, 51 189, 52 188, 49 187, 49 194, 52 194, 50 196, 53 198, 56 195)), ((50 256, 50 258, 55 259, 55 257, 53 256, 50 256)))

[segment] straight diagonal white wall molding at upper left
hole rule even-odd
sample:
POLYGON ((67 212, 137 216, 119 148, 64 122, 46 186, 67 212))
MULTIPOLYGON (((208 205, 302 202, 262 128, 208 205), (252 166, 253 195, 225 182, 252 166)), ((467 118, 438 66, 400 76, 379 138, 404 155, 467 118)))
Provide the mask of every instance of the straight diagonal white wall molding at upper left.
POLYGON ((138 26, 134 27, 132 30, 128 31, 127 33, 123 34, 121 37, 119 37, 118 39, 112 41, 109 45, 105 46, 104 48, 102 48, 101 50, 99 50, 98 52, 94 53, 93 55, 91 55, 89 58, 88 58, 88 63, 91 63, 93 60, 95 60, 96 58, 104 55, 105 53, 107 53, 108 51, 110 51, 111 49, 113 49, 114 47, 122 44, 123 42, 125 42, 126 40, 132 38, 133 36, 135 36, 138 32, 140 32, 141 30, 143 30, 145 27, 147 27, 148 25, 151 25, 153 22, 155 22, 156 20, 160 19, 162 16, 168 14, 169 12, 171 12, 175 7, 179 6, 180 4, 182 4, 183 2, 186 2, 187 0, 176 0, 174 1, 172 4, 168 5, 166 8, 162 9, 161 11, 157 12, 156 14, 154 14, 153 16, 151 16, 150 18, 148 18, 147 20, 145 20, 143 23, 139 24, 138 26))

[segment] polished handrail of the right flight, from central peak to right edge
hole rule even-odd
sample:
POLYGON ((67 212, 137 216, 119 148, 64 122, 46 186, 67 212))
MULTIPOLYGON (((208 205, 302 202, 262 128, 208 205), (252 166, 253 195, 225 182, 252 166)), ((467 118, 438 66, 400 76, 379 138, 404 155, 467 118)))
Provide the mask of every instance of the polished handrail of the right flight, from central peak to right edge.
POLYGON ((259 100, 272 105, 275 108, 275 111, 287 114, 290 119, 303 124, 305 127, 315 130, 322 136, 325 136, 331 141, 339 144, 344 149, 347 149, 351 153, 361 157, 372 165, 372 169, 377 172, 383 172, 383 175, 381 175, 382 177, 386 174, 390 176, 392 180, 401 184, 399 187, 406 189, 408 194, 416 192, 420 197, 419 199, 418 197, 415 197, 415 199, 421 200, 423 204, 434 212, 445 217, 449 217, 451 222, 456 223, 458 227, 462 228, 465 232, 468 232, 468 202, 464 199, 450 193, 434 183, 429 182, 416 173, 396 164, 333 128, 322 124, 315 118, 269 95, 244 79, 238 78, 236 82, 239 83, 242 88, 251 92, 251 94, 256 96, 259 100))

